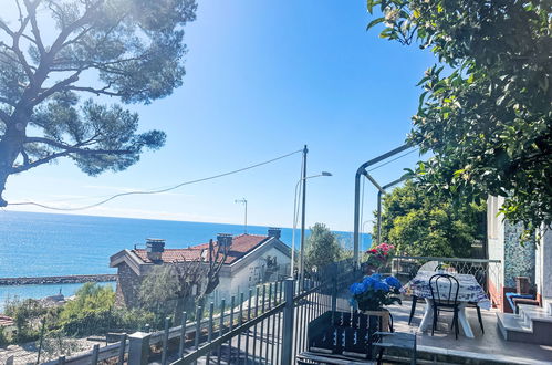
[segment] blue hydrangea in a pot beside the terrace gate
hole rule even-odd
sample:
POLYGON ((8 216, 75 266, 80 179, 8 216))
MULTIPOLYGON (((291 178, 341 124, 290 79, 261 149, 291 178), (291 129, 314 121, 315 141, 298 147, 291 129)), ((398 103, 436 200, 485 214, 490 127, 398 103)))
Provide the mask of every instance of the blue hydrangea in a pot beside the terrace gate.
POLYGON ((387 331, 389 312, 384 307, 390 304, 402 304, 398 295, 402 284, 395 277, 383 278, 378 273, 364 277, 360 283, 351 285, 353 301, 358 304, 358 310, 371 316, 371 331, 377 331, 378 319, 382 320, 382 330, 387 331), (372 320, 374 317, 374 320, 372 320))

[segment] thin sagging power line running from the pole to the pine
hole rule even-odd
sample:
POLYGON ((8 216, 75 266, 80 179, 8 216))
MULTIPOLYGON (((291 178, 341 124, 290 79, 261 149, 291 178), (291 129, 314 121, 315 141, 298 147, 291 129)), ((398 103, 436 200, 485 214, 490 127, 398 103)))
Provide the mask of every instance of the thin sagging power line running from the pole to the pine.
POLYGON ((171 187, 168 187, 168 188, 165 188, 165 189, 148 190, 148 191, 127 191, 127 192, 116 194, 114 196, 108 197, 107 199, 101 200, 101 201, 98 201, 96 204, 93 204, 93 205, 90 205, 90 206, 83 206, 83 207, 76 207, 76 208, 60 208, 60 207, 50 207, 50 206, 46 206, 46 205, 43 205, 43 204, 40 204, 40 202, 34 202, 34 201, 11 202, 11 204, 9 204, 9 206, 37 206, 37 207, 41 207, 41 208, 45 208, 45 209, 51 209, 51 210, 65 210, 65 211, 67 211, 67 210, 69 211, 84 210, 84 209, 90 209, 90 208, 94 208, 94 207, 101 206, 103 204, 106 204, 107 201, 111 201, 113 199, 116 199, 116 198, 119 198, 119 197, 124 197, 124 196, 162 194, 162 192, 167 192, 167 191, 170 191, 170 190, 175 190, 175 189, 177 189, 179 187, 183 187, 185 185, 192 185, 192 184, 197 184, 197 182, 204 182, 204 181, 217 179, 217 178, 220 178, 220 177, 225 177, 225 176, 228 176, 228 175, 233 175, 233 174, 242 173, 242 171, 246 171, 246 170, 259 167, 259 166, 263 166, 263 165, 268 165, 268 164, 274 163, 274 161, 277 161, 279 159, 282 159, 282 158, 285 158, 285 157, 290 157, 292 155, 295 155, 295 154, 302 153, 302 152, 303 152, 303 149, 298 149, 295 152, 292 152, 292 153, 289 153, 289 154, 285 154, 285 155, 282 155, 282 156, 279 156, 279 157, 265 160, 263 163, 254 164, 254 165, 251 165, 251 166, 248 166, 248 167, 239 168, 237 170, 231 170, 231 171, 228 171, 228 173, 222 173, 222 174, 219 174, 219 175, 209 176, 209 177, 205 177, 205 178, 197 179, 197 180, 184 181, 184 182, 180 182, 178 185, 175 185, 175 186, 171 186, 171 187))

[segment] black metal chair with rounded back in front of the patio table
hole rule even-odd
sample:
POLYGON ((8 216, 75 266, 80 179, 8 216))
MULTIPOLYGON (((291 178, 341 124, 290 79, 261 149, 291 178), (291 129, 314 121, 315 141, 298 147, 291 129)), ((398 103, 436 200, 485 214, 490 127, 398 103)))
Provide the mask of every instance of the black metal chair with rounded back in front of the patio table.
POLYGON ((456 338, 460 327, 458 325, 458 312, 460 311, 460 302, 458 302, 458 291, 460 284, 458 280, 446 273, 438 273, 429 278, 429 290, 431 291, 431 300, 434 301, 434 323, 431 326, 431 336, 437 327, 439 312, 452 313, 452 327, 455 328, 456 338))

